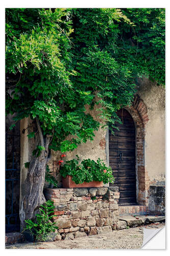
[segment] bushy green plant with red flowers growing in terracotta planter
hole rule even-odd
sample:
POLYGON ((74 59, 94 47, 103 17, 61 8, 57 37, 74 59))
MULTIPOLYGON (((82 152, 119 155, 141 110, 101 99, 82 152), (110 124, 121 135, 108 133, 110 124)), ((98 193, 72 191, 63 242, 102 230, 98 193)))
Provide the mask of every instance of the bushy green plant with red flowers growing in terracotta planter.
POLYGON ((72 176, 72 180, 76 184, 90 181, 114 182, 111 167, 107 167, 100 158, 96 162, 94 160, 84 159, 80 163, 79 157, 78 159, 66 161, 61 166, 60 174, 64 178, 67 175, 72 176))

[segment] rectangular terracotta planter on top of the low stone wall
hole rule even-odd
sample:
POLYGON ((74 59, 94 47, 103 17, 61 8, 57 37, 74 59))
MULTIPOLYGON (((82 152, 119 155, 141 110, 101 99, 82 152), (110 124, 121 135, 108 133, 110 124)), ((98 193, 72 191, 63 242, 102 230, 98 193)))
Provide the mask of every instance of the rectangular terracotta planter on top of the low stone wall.
POLYGON ((83 182, 82 184, 76 184, 72 181, 72 176, 67 175, 65 178, 62 177, 62 183, 64 188, 76 188, 76 187, 103 187, 103 181, 90 181, 83 182))

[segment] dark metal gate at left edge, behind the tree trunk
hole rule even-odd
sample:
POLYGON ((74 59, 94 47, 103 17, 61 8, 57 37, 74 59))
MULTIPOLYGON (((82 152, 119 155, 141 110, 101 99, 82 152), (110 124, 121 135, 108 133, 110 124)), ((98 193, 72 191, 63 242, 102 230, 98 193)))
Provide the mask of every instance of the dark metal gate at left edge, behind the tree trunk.
POLYGON ((6 123, 6 232, 20 230, 19 187, 20 187, 20 122, 10 132, 6 123))

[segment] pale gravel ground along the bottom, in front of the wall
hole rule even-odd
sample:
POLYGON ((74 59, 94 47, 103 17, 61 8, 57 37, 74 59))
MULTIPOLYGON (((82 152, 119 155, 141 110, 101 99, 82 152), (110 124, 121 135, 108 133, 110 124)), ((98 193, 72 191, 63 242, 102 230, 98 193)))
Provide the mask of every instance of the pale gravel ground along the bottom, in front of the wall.
POLYGON ((7 249, 139 249, 143 243, 144 228, 161 228, 164 223, 153 223, 135 228, 116 230, 74 240, 50 243, 22 243, 6 246, 7 249))

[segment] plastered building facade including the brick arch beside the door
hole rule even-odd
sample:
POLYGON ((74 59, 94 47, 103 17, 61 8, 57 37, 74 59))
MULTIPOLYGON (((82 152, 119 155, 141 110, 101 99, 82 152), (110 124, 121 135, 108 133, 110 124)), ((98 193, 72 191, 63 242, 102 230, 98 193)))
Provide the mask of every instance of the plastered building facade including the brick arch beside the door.
MULTIPOLYGON (((165 186, 165 89, 147 78, 138 79, 137 85, 134 102, 125 109, 135 124, 136 203, 150 209, 153 207, 150 205, 150 186, 165 186)), ((95 110, 91 114, 98 118, 95 110)), ((66 160, 76 155, 81 159, 97 160, 100 157, 109 165, 108 130, 100 129, 94 133, 93 142, 88 141, 75 151, 66 153, 66 160)), ((62 187, 58 166, 60 155, 60 152, 53 152, 48 165, 62 187)), ((157 205, 155 212, 161 212, 158 208, 157 205)))

